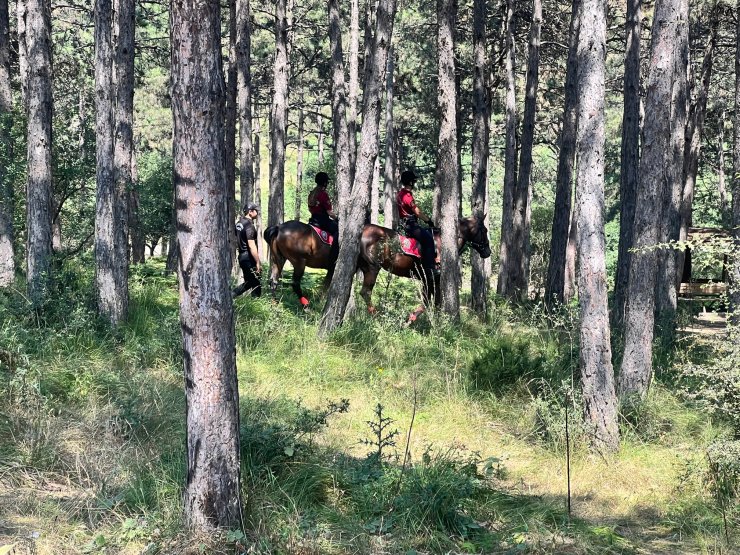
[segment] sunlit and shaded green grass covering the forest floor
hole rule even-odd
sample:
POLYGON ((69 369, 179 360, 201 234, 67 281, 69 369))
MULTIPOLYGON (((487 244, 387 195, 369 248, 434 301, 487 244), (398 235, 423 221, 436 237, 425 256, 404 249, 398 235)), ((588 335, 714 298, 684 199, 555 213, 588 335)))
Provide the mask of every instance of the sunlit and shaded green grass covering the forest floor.
POLYGON ((405 327, 418 297, 395 280, 379 283, 379 316, 358 313, 319 341, 320 274, 305 280, 315 307, 307 314, 287 286, 278 304, 236 301, 247 535, 193 538, 180 509, 177 291, 160 270, 151 262, 135 270, 131 318, 116 334, 94 316, 89 276, 73 269, 65 274, 73 287, 60 289, 41 324, 21 295, 0 297, 0 549, 728 552, 703 479, 704 452, 726 425, 666 379, 623 415, 618 455, 590 454, 567 310, 546 316, 499 303, 488 323, 464 313, 457 324, 432 315, 405 327), (341 399, 346 411, 331 405, 341 399), (378 403, 400 432, 383 462, 362 442, 378 403))

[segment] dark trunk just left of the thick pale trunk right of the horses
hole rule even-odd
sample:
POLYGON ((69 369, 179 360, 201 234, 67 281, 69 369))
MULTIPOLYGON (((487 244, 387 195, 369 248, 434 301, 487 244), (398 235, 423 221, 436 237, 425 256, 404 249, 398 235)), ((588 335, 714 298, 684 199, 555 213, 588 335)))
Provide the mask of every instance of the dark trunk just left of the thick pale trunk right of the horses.
MULTIPOLYGON (((637 0, 639 1, 639 0, 637 0)), ((547 266, 545 302, 563 303, 566 300, 565 282, 568 266, 568 238, 570 236, 571 199, 573 195, 573 168, 576 159, 576 132, 578 128, 578 32, 580 28, 580 0, 573 2, 568 32, 568 62, 565 73, 565 105, 560 131, 558 173, 555 185, 555 214, 552 220, 550 260, 547 266)), ((571 282, 572 283, 572 282, 571 282)))

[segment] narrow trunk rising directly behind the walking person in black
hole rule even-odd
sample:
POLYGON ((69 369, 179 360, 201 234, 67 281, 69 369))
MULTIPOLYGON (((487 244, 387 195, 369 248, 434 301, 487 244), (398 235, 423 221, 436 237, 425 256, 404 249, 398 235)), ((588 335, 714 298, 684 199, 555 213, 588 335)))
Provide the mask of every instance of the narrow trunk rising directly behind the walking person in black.
POLYGON ((259 204, 254 178, 252 143, 252 31, 249 0, 237 0, 236 64, 238 71, 237 108, 239 115, 239 187, 242 205, 259 204))

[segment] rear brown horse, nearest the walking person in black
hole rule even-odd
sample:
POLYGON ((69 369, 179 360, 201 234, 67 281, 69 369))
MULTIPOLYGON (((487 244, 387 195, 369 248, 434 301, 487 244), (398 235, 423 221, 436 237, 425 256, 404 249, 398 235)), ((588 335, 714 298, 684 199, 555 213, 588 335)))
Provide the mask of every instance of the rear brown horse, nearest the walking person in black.
POLYGON ((270 245, 270 290, 275 296, 280 275, 283 273, 285 261, 293 265, 293 291, 304 307, 308 306, 308 299, 303 295, 301 279, 309 268, 324 268, 328 270, 324 285, 329 285, 334 275, 334 265, 337 261, 337 247, 324 243, 313 228, 291 220, 280 225, 268 227, 264 232, 265 241, 270 245))

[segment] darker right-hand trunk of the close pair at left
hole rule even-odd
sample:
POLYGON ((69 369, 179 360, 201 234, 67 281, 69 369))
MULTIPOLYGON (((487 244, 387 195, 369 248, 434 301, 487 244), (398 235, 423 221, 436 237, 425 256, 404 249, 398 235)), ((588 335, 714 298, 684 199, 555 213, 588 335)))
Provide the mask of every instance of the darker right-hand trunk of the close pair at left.
POLYGON ((134 156, 134 0, 115 0, 118 40, 115 51, 116 135, 113 152, 113 179, 116 217, 113 222, 116 237, 115 273, 120 287, 120 320, 128 316, 128 236, 129 193, 133 191, 134 156))

